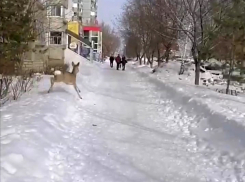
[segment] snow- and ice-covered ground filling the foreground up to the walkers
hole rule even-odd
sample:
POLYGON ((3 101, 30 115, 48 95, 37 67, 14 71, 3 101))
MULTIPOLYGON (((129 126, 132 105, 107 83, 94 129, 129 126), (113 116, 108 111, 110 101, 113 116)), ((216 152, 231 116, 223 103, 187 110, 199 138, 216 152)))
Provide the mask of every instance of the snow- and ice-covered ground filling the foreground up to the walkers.
POLYGON ((130 67, 83 60, 1 108, 1 182, 244 182, 245 129, 130 67))

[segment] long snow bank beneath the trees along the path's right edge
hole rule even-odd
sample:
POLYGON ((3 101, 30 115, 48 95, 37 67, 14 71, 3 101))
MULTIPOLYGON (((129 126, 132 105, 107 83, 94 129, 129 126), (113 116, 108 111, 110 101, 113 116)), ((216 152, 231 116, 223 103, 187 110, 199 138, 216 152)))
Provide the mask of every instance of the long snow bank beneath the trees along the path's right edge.
POLYGON ((228 120, 237 121, 245 127, 245 97, 243 95, 234 97, 220 94, 205 86, 195 86, 193 74, 178 75, 180 63, 175 61, 165 64, 155 74, 151 74, 152 69, 148 66, 142 68, 134 65, 133 68, 164 82, 178 94, 188 96, 192 101, 205 105, 212 113, 219 113, 228 120))

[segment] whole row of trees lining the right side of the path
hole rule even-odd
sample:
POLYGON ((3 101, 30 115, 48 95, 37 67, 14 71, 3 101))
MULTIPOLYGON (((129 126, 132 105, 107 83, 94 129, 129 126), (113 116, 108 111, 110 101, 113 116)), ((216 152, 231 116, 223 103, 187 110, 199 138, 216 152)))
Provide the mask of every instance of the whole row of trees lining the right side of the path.
POLYGON ((152 65, 154 55, 168 62, 171 50, 189 41, 198 85, 202 60, 229 62, 229 75, 244 60, 244 22, 243 0, 129 0, 120 26, 128 56, 140 64, 146 56, 152 65))

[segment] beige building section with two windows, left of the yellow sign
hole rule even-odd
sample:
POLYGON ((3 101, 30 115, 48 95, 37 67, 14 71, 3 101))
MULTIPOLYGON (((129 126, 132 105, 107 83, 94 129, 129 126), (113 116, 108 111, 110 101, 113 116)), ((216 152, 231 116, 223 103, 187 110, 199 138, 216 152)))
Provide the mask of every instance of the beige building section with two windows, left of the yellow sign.
POLYGON ((64 64, 67 7, 68 0, 36 1, 37 39, 29 43, 30 51, 24 55, 24 70, 45 71, 47 67, 64 64))

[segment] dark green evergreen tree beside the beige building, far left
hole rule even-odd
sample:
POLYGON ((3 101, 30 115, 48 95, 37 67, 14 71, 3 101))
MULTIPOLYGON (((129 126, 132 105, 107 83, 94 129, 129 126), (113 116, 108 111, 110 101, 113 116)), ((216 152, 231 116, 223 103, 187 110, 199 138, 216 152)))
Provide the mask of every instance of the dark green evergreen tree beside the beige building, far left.
POLYGON ((20 61, 28 49, 28 42, 35 39, 34 1, 1 0, 0 2, 0 63, 20 61))

